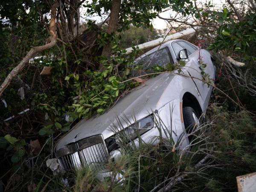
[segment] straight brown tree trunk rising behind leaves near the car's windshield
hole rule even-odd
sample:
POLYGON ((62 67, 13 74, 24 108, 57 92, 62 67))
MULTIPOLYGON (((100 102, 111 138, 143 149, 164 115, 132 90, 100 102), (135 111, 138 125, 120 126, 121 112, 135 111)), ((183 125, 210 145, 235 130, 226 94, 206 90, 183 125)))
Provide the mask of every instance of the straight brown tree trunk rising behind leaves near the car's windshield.
MULTIPOLYGON (((111 3, 111 12, 109 17, 109 23, 108 23, 108 34, 111 34, 112 32, 116 32, 118 19, 119 19, 119 12, 120 12, 120 6, 121 6, 121 0, 112 0, 111 3)), ((111 54, 111 42, 108 43, 105 47, 103 47, 102 55, 105 57, 109 57, 111 54)), ((100 65, 100 68, 102 68, 102 65, 100 65)))

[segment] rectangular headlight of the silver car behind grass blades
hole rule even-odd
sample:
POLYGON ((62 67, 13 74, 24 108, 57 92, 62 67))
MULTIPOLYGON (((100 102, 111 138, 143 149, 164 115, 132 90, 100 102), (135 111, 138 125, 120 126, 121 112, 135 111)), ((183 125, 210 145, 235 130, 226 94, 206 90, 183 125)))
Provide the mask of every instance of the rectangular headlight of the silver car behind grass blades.
POLYGON ((153 115, 146 116, 134 124, 122 129, 115 135, 116 143, 127 142, 136 139, 154 127, 153 115))

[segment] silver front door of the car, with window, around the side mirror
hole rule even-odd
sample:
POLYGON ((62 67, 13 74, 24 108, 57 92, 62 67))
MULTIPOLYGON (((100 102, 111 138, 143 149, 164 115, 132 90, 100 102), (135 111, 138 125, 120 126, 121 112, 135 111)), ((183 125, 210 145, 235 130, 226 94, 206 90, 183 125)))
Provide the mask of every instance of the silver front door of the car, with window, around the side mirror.
MULTIPOLYGON (((181 49, 187 50, 189 58, 185 60, 185 68, 188 71, 189 75, 192 77, 192 81, 194 81, 195 83, 195 89, 197 90, 198 96, 201 96, 202 100, 205 101, 210 91, 210 87, 206 83, 201 81, 202 70, 198 62, 198 48, 192 44, 189 44, 186 41, 175 41, 172 43, 172 48, 174 49, 176 57, 181 49)), ((207 67, 209 68, 209 66, 207 67)), ((209 70, 207 67, 204 69, 205 73, 207 73, 209 70)))

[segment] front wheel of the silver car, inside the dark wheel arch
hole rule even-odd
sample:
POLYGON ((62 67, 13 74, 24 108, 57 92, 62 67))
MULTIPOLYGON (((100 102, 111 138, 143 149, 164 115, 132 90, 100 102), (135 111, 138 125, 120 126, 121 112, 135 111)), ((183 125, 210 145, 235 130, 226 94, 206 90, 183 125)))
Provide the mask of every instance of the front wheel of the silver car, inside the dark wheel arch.
MULTIPOLYGON (((200 125, 198 113, 192 107, 183 108, 183 120, 187 134, 194 131, 200 125)), ((193 136, 189 136, 189 142, 191 142, 193 136)))

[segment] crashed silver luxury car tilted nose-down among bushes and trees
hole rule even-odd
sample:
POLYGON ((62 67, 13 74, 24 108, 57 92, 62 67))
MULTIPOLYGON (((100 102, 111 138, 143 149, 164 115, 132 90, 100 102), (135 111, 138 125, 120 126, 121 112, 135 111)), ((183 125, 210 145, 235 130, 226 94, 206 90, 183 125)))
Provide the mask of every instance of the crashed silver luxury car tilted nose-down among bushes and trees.
MULTIPOLYGON (((201 61, 207 64, 204 69, 199 63, 199 48, 183 41, 168 41, 140 56, 134 62, 143 64, 144 69, 151 69, 156 64, 176 65, 185 61, 180 74, 162 73, 134 88, 108 112, 81 120, 75 127, 55 145, 55 156, 65 170, 79 166, 93 166, 105 169, 109 158, 113 160, 120 155, 119 132, 130 135, 133 143, 138 145, 138 133, 145 142, 159 136, 159 129, 154 126, 154 114, 161 119, 162 131, 171 132, 177 142, 184 137, 180 148, 189 144, 186 137, 190 125, 198 123, 199 117, 207 109, 212 86, 204 83, 201 71, 215 79, 215 67, 210 53, 201 49, 201 61), (172 113, 172 118, 170 118, 172 113), (138 133, 134 134, 136 124, 138 133), (120 126, 122 125, 122 126, 120 126), (113 130, 113 127, 116 129, 113 130), (172 130, 172 131, 171 131, 172 130), (187 131, 187 132, 186 132, 187 131)), ((177 73, 177 70, 173 71, 177 73)), ((155 141, 156 142, 156 141, 155 141)))

